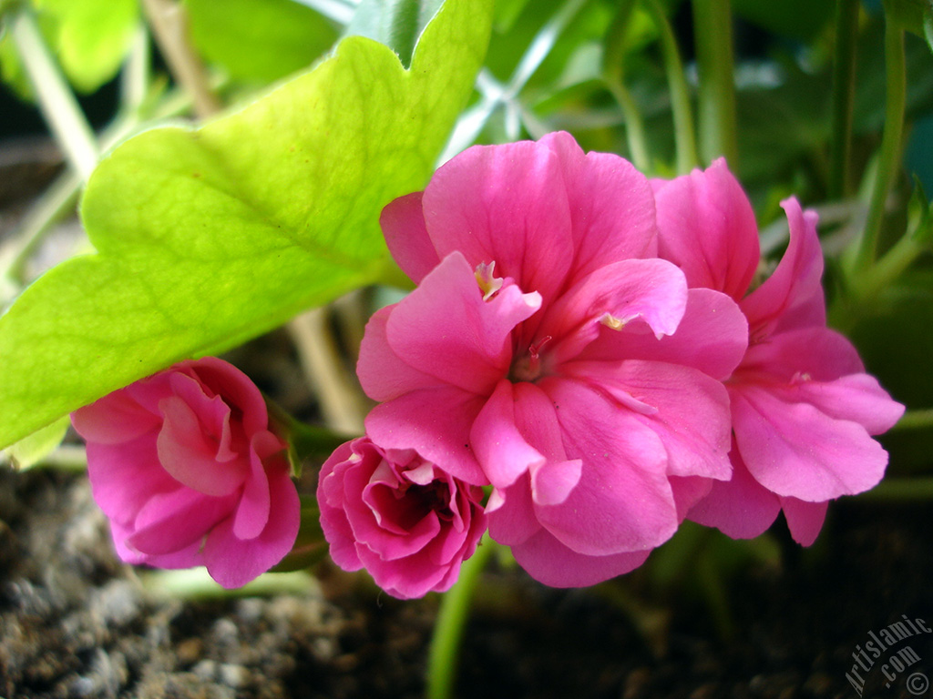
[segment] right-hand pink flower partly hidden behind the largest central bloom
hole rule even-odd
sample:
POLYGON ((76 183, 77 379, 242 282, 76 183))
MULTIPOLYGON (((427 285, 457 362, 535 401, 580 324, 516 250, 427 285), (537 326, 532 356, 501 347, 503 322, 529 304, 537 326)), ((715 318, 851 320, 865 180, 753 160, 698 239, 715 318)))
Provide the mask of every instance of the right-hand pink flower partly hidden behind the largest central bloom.
POLYGON ((904 408, 865 373, 852 344, 826 327, 815 213, 796 199, 783 202, 787 253, 748 294, 758 229, 725 161, 654 185, 661 256, 683 269, 690 287, 730 295, 748 320, 748 349, 726 382, 734 474, 714 483, 689 517, 745 538, 783 509, 791 533, 809 545, 828 500, 881 480, 887 454, 870 435, 888 430, 904 408))

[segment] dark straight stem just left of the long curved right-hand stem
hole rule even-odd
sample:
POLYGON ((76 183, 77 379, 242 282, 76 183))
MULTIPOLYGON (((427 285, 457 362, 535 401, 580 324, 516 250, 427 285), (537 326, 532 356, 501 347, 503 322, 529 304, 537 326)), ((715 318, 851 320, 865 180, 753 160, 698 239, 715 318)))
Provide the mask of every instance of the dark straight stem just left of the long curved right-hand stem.
POLYGON ((858 0, 836 2, 836 45, 832 66, 832 136, 829 144, 829 199, 849 193, 852 115, 856 96, 858 0))

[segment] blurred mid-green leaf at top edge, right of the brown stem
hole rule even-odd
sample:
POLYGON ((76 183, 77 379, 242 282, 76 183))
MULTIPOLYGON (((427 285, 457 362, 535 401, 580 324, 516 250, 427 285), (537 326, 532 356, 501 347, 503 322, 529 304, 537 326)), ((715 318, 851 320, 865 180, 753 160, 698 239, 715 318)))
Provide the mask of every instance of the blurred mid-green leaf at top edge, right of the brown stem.
POLYGON ((185 0, 191 39, 234 78, 271 82, 307 68, 337 31, 294 0, 185 0))

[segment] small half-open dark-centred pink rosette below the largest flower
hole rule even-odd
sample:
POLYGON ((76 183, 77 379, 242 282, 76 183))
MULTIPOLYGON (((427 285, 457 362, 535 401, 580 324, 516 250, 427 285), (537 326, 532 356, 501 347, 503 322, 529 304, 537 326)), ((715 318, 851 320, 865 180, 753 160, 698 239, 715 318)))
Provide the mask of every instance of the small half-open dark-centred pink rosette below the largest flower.
POLYGON ((341 445, 317 485, 330 557, 366 568, 392 596, 443 592, 486 530, 482 490, 411 449, 383 449, 368 437, 341 445))

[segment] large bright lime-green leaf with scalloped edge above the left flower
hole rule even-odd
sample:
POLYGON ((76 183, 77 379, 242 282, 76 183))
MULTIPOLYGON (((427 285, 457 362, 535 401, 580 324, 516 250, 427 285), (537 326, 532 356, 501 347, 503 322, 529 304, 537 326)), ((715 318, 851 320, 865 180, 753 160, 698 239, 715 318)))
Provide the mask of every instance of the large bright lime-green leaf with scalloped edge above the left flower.
POLYGON ((490 6, 448 0, 411 71, 350 37, 242 112, 146 131, 105 158, 82 205, 98 254, 52 269, 0 318, 0 445, 378 280, 379 213, 425 185, 490 6))

